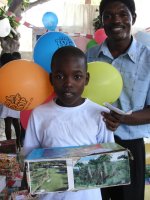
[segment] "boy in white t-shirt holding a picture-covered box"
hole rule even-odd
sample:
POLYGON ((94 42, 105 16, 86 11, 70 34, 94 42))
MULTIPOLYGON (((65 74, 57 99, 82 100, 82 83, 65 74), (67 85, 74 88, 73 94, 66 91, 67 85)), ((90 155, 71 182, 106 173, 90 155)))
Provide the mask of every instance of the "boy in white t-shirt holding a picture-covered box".
MULTIPOLYGON (((52 58, 50 81, 56 99, 36 108, 27 127, 24 154, 34 148, 66 147, 114 142, 100 113, 108 110, 81 97, 88 84, 87 62, 76 47, 62 47, 52 58)), ((42 200, 100 200, 100 189, 40 195, 42 200)))

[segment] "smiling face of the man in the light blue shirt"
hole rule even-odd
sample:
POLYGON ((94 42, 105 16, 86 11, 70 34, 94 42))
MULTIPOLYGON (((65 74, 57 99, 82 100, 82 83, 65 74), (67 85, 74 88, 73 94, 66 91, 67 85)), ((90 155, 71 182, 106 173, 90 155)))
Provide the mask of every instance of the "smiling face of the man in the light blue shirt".
POLYGON ((136 19, 128 7, 119 2, 109 3, 102 14, 102 22, 108 36, 112 40, 125 40, 131 38, 131 27, 136 19))

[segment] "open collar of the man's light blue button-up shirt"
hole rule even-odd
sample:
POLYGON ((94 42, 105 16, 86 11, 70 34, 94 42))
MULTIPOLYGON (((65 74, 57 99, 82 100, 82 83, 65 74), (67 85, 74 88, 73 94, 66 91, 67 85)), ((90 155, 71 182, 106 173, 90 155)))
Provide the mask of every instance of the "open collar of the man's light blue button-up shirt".
MULTIPOLYGON (((137 41, 133 38, 130 47, 129 47, 128 50, 123 54, 124 56, 125 56, 125 55, 128 55, 129 58, 130 58, 134 63, 136 63, 136 60, 137 60, 136 44, 137 44, 137 41)), ((99 50, 98 50, 98 53, 97 53, 97 57, 99 57, 101 53, 102 53, 103 55, 105 55, 105 56, 111 58, 111 59, 114 59, 113 56, 111 55, 111 53, 110 53, 108 47, 107 47, 107 42, 106 42, 106 40, 100 45, 99 50)))

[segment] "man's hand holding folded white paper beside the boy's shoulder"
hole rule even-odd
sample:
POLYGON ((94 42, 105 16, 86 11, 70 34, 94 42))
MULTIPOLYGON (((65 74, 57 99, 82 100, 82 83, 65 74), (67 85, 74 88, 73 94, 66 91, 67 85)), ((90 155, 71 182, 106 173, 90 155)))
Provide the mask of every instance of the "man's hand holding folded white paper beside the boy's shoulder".
POLYGON ((124 118, 124 115, 120 115, 114 111, 110 111, 110 113, 102 112, 102 115, 107 128, 111 131, 115 131, 124 118))

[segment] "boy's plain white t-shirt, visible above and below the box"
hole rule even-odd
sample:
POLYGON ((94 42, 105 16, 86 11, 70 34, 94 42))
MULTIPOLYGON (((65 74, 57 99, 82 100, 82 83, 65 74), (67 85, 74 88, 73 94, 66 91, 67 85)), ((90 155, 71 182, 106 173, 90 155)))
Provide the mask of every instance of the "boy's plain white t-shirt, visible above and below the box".
MULTIPOLYGON (((35 148, 66 147, 114 142, 101 115, 109 112, 89 99, 76 107, 62 107, 51 101, 34 109, 24 141, 24 155, 35 148)), ((48 193, 41 200, 101 200, 100 189, 48 193)))

